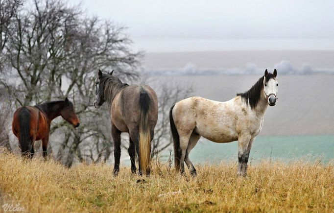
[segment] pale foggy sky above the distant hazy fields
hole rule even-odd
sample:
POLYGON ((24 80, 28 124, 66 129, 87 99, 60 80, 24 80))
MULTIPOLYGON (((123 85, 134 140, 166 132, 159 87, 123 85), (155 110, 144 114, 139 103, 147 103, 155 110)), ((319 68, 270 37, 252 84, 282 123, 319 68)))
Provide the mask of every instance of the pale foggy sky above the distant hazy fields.
MULTIPOLYGON (((173 42, 188 39, 255 40, 259 46, 262 40, 289 40, 284 49, 328 49, 326 42, 318 41, 324 40, 334 49, 334 0, 82 0, 81 6, 90 15, 128 26, 127 33, 139 47, 152 40, 148 50, 153 51, 154 42, 166 42, 170 51, 173 42), (293 45, 300 40, 305 42, 293 45)), ((262 49, 270 48, 277 47, 262 49)))

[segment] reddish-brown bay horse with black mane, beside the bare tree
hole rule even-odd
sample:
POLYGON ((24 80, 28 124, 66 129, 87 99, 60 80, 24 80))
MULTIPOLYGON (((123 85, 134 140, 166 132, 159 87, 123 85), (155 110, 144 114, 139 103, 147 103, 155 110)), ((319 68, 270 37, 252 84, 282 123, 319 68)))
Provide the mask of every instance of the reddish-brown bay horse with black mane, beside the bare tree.
POLYGON ((51 121, 61 116, 74 127, 80 124, 74 112, 72 102, 65 100, 51 101, 35 106, 23 106, 14 113, 12 130, 18 138, 23 156, 34 155, 35 141, 42 140, 43 157, 47 157, 48 137, 51 121))

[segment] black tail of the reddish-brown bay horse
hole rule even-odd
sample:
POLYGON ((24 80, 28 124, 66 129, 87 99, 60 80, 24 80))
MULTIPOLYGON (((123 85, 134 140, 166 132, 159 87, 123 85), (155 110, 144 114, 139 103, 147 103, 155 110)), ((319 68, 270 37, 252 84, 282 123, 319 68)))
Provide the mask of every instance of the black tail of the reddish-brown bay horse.
POLYGON ((20 145, 22 155, 26 155, 31 151, 32 143, 30 138, 30 112, 23 107, 19 114, 20 123, 20 145))

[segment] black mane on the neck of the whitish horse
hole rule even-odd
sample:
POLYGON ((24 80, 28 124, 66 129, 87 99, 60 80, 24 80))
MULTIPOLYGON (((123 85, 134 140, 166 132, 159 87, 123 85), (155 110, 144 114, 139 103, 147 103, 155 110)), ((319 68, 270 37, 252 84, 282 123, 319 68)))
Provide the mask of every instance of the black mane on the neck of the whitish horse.
MULTIPOLYGON (((265 77, 265 83, 267 83, 271 78, 275 78, 275 76, 272 73, 268 73, 265 77)), ((240 95, 241 99, 245 101, 246 105, 250 105, 252 109, 254 109, 259 103, 263 89, 263 79, 264 75, 247 92, 237 93, 237 96, 240 95)))

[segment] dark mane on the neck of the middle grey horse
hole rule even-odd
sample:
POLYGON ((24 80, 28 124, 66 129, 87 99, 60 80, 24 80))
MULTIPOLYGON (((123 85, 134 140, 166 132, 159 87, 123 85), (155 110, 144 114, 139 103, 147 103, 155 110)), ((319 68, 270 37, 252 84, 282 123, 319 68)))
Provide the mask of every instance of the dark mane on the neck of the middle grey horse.
POLYGON ((119 91, 129 86, 126 83, 122 83, 118 77, 115 77, 111 74, 103 74, 102 78, 100 79, 100 84, 104 85, 104 98, 109 108, 111 107, 111 103, 119 91))

